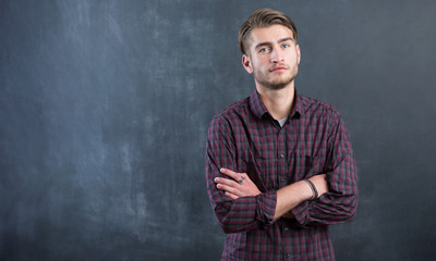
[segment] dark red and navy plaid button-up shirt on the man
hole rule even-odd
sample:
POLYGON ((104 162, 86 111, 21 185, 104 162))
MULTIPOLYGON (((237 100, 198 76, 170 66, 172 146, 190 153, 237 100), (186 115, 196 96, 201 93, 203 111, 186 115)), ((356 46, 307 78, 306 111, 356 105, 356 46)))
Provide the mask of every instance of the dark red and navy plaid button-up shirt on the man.
POLYGON ((222 260, 335 260, 328 225, 350 221, 358 206, 358 176, 339 112, 299 96, 284 125, 268 113, 257 91, 217 114, 206 151, 207 191, 228 234, 222 260), (262 194, 232 200, 216 188, 220 167, 246 173, 262 194), (327 174, 329 192, 274 219, 277 190, 327 174))

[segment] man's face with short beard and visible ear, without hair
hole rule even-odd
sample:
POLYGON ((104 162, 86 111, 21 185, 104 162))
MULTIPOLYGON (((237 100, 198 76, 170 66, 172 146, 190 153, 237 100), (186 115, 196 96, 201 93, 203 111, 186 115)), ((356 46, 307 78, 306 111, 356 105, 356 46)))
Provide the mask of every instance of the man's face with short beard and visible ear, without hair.
POLYGON ((254 75, 256 85, 282 89, 293 83, 300 64, 300 47, 292 30, 271 25, 252 30, 247 53, 242 57, 245 70, 254 75))

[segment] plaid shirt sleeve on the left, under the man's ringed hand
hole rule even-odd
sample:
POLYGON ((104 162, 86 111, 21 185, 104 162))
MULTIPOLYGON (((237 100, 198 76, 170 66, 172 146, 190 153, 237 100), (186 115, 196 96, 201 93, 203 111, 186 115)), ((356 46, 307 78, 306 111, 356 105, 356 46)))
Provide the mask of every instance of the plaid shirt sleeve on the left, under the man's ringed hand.
POLYGON ((267 226, 274 223, 276 211, 276 191, 232 200, 222 190, 216 188, 214 178, 227 177, 219 172, 221 167, 238 172, 235 149, 230 123, 223 117, 215 117, 207 134, 206 182, 211 207, 225 233, 238 233, 267 226))

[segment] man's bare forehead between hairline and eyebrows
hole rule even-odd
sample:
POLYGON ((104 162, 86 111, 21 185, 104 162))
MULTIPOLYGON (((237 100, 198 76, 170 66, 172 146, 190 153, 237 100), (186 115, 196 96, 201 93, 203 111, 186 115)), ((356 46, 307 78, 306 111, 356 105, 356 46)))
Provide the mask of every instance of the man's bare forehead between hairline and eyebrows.
POLYGON ((280 39, 289 37, 294 39, 292 30, 284 25, 271 25, 263 28, 254 28, 250 34, 249 46, 250 49, 252 49, 261 42, 274 44, 278 42, 280 39))

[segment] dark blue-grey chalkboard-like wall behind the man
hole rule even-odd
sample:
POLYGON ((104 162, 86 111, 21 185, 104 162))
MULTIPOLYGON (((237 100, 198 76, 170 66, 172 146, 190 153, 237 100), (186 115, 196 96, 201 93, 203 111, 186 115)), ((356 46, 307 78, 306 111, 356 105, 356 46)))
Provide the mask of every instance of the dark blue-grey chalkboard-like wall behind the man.
POLYGON ((0 260, 218 260, 211 116, 250 96, 256 9, 300 30, 296 87, 343 115, 358 216, 338 260, 434 260, 435 1, 0 1, 0 260))

